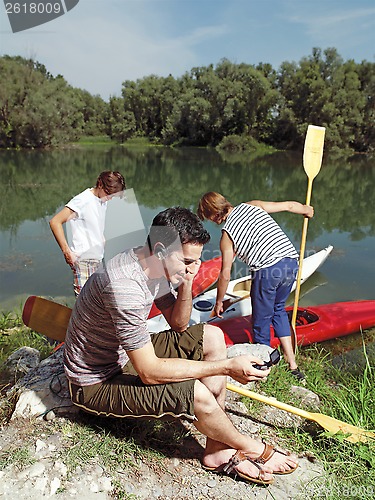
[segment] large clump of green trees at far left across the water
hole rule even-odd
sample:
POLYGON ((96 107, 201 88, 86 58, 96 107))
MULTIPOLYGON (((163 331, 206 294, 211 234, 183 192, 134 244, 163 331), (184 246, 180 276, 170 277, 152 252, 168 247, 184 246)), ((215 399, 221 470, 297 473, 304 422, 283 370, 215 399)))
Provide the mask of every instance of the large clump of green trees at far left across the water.
POLYGON ((31 59, 1 57, 0 147, 43 148, 106 133, 108 105, 31 59))

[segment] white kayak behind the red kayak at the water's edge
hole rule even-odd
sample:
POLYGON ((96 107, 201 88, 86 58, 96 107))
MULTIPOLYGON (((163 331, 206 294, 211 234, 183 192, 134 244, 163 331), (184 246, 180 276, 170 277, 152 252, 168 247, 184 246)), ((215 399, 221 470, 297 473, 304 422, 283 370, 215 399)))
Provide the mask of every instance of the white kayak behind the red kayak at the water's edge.
MULTIPOLYGON (((303 259, 301 284, 304 283, 314 272, 326 261, 328 255, 332 252, 333 246, 316 252, 303 259)), ((251 314, 250 296, 251 276, 245 276, 229 282, 227 293, 224 297, 223 319, 235 318, 237 316, 247 316, 251 314)), ((296 288, 296 282, 292 287, 292 292, 296 288)), ((193 309, 191 312, 190 325, 209 322, 211 313, 216 302, 216 288, 198 295, 193 299, 193 309)), ((215 322, 219 318, 215 317, 215 322)), ((170 328, 162 314, 147 320, 150 332, 161 332, 170 328)))

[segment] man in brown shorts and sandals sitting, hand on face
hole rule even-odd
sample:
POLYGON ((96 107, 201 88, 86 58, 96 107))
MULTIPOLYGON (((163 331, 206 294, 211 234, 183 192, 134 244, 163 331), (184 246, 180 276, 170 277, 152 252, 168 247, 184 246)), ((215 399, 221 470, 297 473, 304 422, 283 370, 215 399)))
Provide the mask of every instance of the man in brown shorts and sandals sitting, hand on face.
POLYGON ((100 416, 189 419, 207 436, 207 470, 270 484, 272 474, 293 472, 297 463, 240 434, 224 411, 227 376, 245 384, 269 370, 255 369, 262 360, 250 355, 227 359, 219 328, 188 328, 192 283, 209 239, 190 210, 169 208, 154 218, 147 244, 115 256, 89 278, 66 335, 71 397, 100 416), (154 299, 171 330, 151 335, 154 299))

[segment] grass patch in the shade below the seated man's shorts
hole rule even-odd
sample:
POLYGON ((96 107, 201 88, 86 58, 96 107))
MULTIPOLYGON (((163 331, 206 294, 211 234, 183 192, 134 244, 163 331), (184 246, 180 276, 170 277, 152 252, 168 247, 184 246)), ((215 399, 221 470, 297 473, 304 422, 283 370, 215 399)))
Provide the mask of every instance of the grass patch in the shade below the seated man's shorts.
MULTIPOLYGON (((55 421, 54 425, 59 425, 55 421)), ((137 498, 126 492, 126 478, 138 476, 142 482, 142 462, 157 474, 168 472, 164 466, 165 454, 182 444, 186 431, 179 431, 175 422, 93 417, 80 414, 75 421, 65 421, 60 431, 63 449, 60 460, 74 474, 82 464, 96 464, 111 476, 112 496, 116 500, 137 498), (165 453, 165 454, 164 454, 165 453)))

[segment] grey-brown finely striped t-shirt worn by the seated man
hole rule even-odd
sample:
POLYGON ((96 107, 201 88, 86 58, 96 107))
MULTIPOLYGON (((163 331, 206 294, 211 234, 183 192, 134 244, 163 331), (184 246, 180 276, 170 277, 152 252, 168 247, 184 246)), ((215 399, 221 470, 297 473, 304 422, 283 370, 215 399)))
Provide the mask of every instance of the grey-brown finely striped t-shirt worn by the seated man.
POLYGON ((150 342, 147 317, 154 301, 163 310, 175 301, 166 278, 150 280, 133 250, 90 276, 77 297, 64 349, 65 373, 76 385, 110 379, 127 363, 126 351, 150 342))

